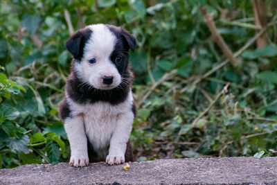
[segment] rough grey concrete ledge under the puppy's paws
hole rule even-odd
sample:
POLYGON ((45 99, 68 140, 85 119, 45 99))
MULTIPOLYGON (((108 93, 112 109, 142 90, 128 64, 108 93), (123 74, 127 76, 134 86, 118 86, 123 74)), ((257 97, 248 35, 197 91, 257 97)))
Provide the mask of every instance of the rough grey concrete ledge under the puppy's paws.
POLYGON ((162 159, 74 168, 66 163, 0 170, 0 184, 277 184, 277 157, 162 159))

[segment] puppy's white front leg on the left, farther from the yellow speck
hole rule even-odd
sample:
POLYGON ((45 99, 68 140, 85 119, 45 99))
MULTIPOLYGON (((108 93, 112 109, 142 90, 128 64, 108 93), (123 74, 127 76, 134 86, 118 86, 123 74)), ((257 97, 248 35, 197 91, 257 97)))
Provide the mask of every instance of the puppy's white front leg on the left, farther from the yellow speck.
POLYGON ((87 153, 87 136, 84 132, 84 121, 82 116, 74 116, 64 120, 64 129, 69 138, 71 166, 86 166, 89 164, 87 153))

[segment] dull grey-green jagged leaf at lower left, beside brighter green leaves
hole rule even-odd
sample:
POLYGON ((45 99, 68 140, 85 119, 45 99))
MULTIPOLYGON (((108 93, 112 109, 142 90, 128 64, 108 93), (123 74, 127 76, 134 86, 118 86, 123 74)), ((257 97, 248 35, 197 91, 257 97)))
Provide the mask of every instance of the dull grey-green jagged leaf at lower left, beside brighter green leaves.
POLYGON ((22 136, 21 139, 10 137, 8 139, 8 147, 17 150, 18 152, 28 153, 27 145, 29 141, 30 139, 28 135, 22 136))

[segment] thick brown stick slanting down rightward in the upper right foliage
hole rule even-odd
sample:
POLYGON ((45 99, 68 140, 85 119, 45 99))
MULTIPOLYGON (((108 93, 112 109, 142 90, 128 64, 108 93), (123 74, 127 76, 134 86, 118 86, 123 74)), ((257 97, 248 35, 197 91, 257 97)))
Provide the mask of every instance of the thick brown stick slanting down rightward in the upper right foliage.
POLYGON ((233 67, 236 67, 238 65, 238 61, 235 59, 233 52, 231 51, 231 49, 229 49, 226 42, 224 42, 224 39, 222 38, 220 33, 218 33, 217 27, 215 26, 215 22, 213 21, 213 14, 208 14, 204 6, 202 6, 200 10, 204 17, 204 21, 206 22, 208 29, 212 34, 213 39, 215 39, 215 42, 220 47, 224 55, 226 55, 226 58, 230 60, 233 67))

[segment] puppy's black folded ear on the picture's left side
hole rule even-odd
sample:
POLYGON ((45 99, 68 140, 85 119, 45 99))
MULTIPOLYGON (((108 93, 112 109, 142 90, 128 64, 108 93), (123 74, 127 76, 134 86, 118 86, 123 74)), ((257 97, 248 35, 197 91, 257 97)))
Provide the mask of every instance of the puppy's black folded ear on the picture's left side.
POLYGON ((92 30, 83 28, 74 33, 66 42, 66 49, 73 55, 73 58, 80 60, 84 51, 84 44, 91 36, 92 30))

